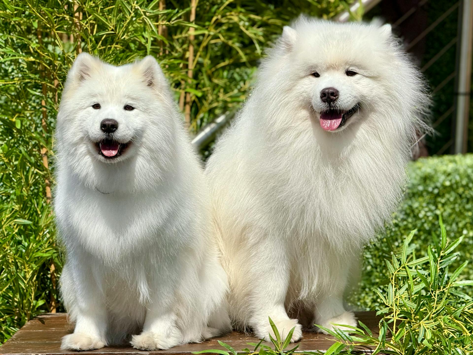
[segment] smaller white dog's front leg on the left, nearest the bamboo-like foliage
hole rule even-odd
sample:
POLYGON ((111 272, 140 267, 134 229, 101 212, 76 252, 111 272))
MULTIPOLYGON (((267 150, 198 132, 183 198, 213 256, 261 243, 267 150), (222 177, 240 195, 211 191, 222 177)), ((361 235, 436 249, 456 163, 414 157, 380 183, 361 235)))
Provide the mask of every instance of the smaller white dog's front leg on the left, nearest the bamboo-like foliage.
POLYGON ((64 301, 75 319, 74 333, 62 338, 62 350, 92 350, 106 346, 106 311, 101 275, 93 263, 71 255, 61 275, 64 301))

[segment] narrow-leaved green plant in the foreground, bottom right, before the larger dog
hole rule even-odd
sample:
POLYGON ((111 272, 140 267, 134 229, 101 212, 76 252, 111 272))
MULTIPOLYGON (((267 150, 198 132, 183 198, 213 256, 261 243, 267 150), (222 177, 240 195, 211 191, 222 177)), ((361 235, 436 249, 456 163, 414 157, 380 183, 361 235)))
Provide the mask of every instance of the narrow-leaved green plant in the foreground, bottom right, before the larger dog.
MULTIPOLYGON (((411 244, 415 235, 416 231, 411 231, 402 247, 395 249, 391 258, 383 260, 389 283, 376 290, 382 303, 377 312, 382 316, 378 334, 373 335, 361 321, 359 327, 342 325, 350 328, 349 332, 316 325, 337 339, 325 355, 358 354, 360 349, 367 347, 373 349, 372 354, 472 353, 473 299, 463 292, 463 287, 473 285, 473 280, 463 279, 462 272, 467 261, 458 268, 452 267, 454 262, 461 261, 458 257, 460 252, 455 249, 464 236, 448 243, 447 231, 440 219, 440 233, 436 234, 434 246, 427 248, 427 257, 418 258, 411 244)), ((277 330, 274 332, 278 338, 276 341, 271 338, 274 350, 262 346, 263 352, 260 351, 259 354, 283 354, 279 334, 277 330)), ((284 345, 288 345, 286 343, 289 343, 291 335, 288 334, 284 345)), ((220 345, 229 348, 227 344, 220 342, 220 345)), ((258 345, 261 346, 261 342, 258 345)), ((243 352, 256 355, 256 350, 257 347, 253 352, 248 349, 243 352)), ((224 350, 206 350, 194 354, 201 353, 230 355, 230 352, 224 350)), ((234 351, 231 353, 235 355, 234 351)))

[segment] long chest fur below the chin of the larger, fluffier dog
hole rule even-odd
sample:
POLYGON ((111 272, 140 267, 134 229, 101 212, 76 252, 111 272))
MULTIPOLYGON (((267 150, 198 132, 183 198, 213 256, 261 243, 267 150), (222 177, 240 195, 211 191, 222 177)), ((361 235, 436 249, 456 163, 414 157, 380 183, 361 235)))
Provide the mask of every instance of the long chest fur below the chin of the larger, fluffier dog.
POLYGON ((251 169, 261 174, 254 184, 272 185, 257 190, 278 216, 275 229, 300 242, 323 239, 343 250, 372 238, 395 210, 406 181, 403 154, 373 141, 341 148, 299 135, 298 144, 263 152, 267 169, 251 169))

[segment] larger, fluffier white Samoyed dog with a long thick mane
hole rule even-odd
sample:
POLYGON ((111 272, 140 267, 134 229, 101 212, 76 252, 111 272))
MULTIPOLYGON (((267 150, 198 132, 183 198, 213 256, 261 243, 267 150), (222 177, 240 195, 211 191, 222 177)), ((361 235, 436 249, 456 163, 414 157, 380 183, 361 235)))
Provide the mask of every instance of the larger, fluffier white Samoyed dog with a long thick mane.
POLYGON ((284 27, 206 168, 237 326, 268 340, 271 317, 297 341, 301 325, 357 325, 343 293, 402 198, 428 106, 390 25, 284 27))

